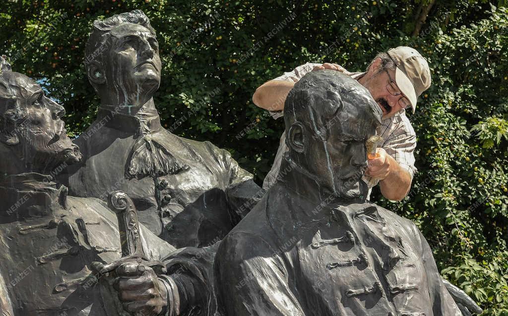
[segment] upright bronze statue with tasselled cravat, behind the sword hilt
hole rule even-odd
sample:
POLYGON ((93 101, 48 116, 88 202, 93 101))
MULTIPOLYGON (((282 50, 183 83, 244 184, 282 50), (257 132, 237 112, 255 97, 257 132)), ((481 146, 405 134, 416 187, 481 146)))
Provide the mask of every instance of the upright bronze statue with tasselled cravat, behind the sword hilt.
POLYGON ((85 64, 101 105, 75 141, 84 157, 71 170, 70 192, 102 199, 126 192, 140 221, 177 248, 222 239, 260 188, 226 150, 161 126, 152 96, 162 63, 146 15, 135 10, 95 21, 85 64))

